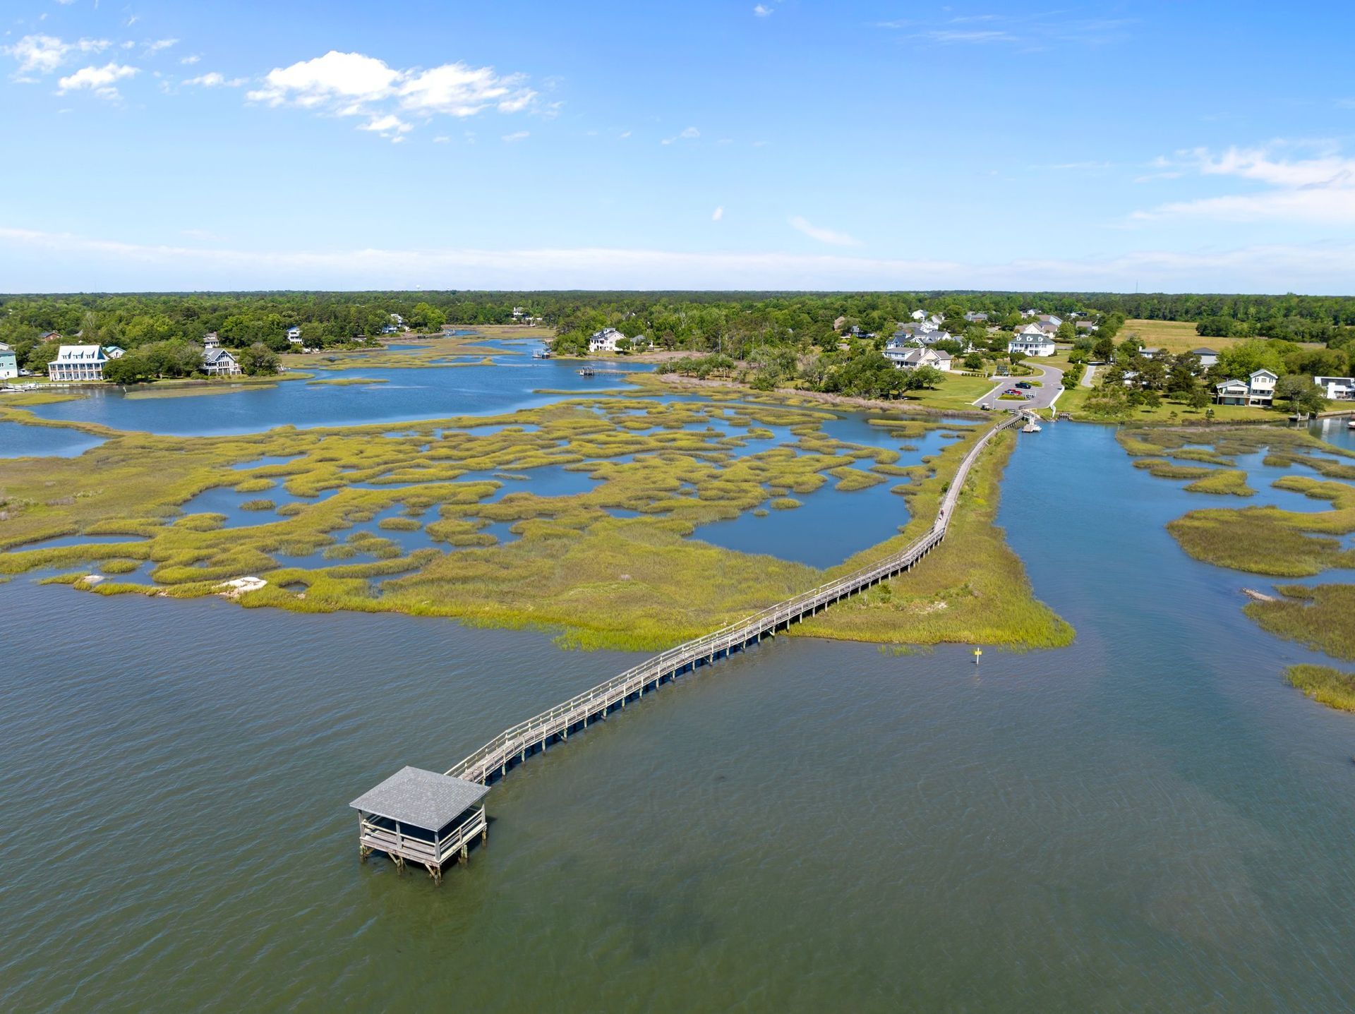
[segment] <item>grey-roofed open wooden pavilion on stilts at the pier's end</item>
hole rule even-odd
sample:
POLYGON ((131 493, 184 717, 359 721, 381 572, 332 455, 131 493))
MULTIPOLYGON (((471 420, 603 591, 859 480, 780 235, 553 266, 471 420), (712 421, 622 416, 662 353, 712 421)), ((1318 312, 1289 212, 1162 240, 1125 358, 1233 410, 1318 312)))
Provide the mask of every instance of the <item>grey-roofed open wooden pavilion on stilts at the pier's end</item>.
POLYGON ((489 789, 421 767, 402 767, 348 805, 358 811, 358 854, 385 853, 396 866, 421 864, 442 881, 449 859, 466 859, 488 838, 481 800, 489 789))

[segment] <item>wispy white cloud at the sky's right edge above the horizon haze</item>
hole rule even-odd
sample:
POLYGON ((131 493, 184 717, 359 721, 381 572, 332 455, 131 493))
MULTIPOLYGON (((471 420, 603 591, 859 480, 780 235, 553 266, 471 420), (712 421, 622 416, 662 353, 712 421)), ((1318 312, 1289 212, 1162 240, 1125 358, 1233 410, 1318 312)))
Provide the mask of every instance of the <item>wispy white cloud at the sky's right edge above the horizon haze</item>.
POLYGON ((1263 188, 1175 201, 1152 210, 1135 211, 1133 217, 1137 220, 1199 217, 1237 222, 1267 218, 1317 224, 1355 222, 1355 159, 1340 155, 1331 142, 1295 145, 1276 141, 1267 148, 1229 148, 1221 155, 1196 148, 1179 152, 1176 163, 1160 159, 1154 165, 1175 165, 1176 171, 1168 169, 1149 178, 1194 172, 1201 178, 1248 180, 1263 188), (1308 157, 1279 155, 1287 150, 1304 150, 1308 157))

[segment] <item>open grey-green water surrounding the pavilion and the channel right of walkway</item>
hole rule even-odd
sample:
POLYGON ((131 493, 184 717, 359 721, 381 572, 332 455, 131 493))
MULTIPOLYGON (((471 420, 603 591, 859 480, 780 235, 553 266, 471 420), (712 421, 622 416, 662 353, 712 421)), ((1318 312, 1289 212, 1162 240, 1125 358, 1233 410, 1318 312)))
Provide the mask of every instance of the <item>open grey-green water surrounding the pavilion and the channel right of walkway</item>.
POLYGON ((0 1006, 1347 1010, 1355 718, 1163 530, 1221 503, 1182 485, 1023 438, 1000 523, 1072 648, 776 638, 514 773, 442 888, 347 801, 633 656, 0 586, 0 1006))

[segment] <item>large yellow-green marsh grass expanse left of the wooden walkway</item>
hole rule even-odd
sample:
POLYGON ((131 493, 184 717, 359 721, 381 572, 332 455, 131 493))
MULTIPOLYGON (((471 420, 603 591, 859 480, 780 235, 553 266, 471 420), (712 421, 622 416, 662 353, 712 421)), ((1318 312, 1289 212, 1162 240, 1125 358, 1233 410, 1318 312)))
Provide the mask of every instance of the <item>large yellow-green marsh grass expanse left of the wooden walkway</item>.
MULTIPOLYGON (((81 458, 5 465, 0 484, 11 516, 0 526, 0 573, 149 560, 153 584, 88 586, 79 575, 69 583, 106 595, 191 598, 256 575, 268 584, 241 595, 243 606, 443 615, 562 630, 562 643, 575 647, 664 647, 822 580, 802 564, 694 541, 698 526, 766 514, 768 498, 789 507, 793 495, 825 483, 850 498, 888 476, 909 480, 897 492, 913 498, 915 511, 935 511, 939 493, 928 493, 928 484, 977 432, 930 464, 901 466, 901 449, 835 439, 821 427, 837 415, 797 401, 738 392, 664 404, 618 392, 497 418, 424 420, 394 434, 373 424, 184 439, 77 424, 107 442, 81 458), (503 428, 478 432, 495 427, 503 428), (780 446, 738 455, 747 439, 778 431, 790 432, 780 446), (266 457, 286 461, 251 466, 266 457), (592 485, 569 496, 514 489, 516 476, 546 466, 587 474, 592 485), (214 487, 276 488, 291 499, 255 525, 182 515, 214 487), (352 530, 392 510, 400 516, 382 516, 378 529, 413 531, 416 518, 431 514, 425 531, 444 549, 401 557, 390 540, 352 530), (611 510, 640 516, 615 518, 611 510), (495 522, 509 525, 515 540, 500 545, 485 531, 495 522), (106 534, 108 544, 24 549, 77 533, 106 534), (118 544, 118 534, 146 541, 118 544)), ((31 420, 22 409, 0 418, 31 420)), ((879 422, 892 441, 942 427, 879 422)))

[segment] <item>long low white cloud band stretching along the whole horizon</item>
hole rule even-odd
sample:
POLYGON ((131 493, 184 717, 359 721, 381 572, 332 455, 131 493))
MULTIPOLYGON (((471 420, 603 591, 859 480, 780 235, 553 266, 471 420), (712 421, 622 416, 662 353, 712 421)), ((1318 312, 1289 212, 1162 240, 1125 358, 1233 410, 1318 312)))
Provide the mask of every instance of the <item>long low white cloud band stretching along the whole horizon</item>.
POLYGON ((18 291, 196 289, 1005 289, 1346 291, 1355 244, 1141 252, 1001 263, 619 248, 214 249, 0 228, 18 291))

